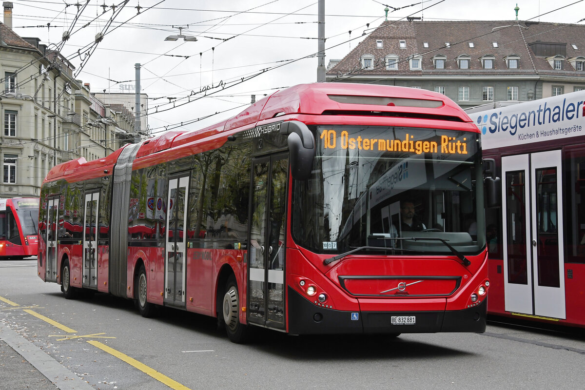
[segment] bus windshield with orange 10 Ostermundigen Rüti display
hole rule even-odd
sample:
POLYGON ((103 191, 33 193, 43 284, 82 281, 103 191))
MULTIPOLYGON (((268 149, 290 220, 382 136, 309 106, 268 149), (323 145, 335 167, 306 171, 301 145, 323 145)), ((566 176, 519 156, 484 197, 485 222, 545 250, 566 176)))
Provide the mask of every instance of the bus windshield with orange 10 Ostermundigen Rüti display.
POLYGON ((316 253, 477 254, 485 246, 479 134, 314 126, 311 177, 294 181, 292 236, 316 253), (424 240, 424 239, 428 240, 424 240), (376 251, 371 247, 383 247, 376 251))

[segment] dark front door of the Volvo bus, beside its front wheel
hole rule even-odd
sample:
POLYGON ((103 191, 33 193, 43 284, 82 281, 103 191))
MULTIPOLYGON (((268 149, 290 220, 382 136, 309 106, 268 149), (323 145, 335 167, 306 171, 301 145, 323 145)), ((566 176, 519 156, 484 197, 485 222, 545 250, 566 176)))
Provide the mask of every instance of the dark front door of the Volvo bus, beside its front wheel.
POLYGON ((285 328, 285 218, 288 158, 252 161, 247 320, 285 328))

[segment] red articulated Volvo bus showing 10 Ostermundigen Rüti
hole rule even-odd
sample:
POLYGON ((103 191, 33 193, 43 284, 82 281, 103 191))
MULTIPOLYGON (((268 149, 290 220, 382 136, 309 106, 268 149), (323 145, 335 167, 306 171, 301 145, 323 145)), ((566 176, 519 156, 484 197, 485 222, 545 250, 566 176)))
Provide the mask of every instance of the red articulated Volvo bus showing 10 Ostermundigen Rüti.
POLYGON ((54 167, 39 276, 66 298, 135 299, 144 316, 218 317, 235 342, 249 326, 483 332, 483 180, 479 130, 444 95, 298 85, 54 167))

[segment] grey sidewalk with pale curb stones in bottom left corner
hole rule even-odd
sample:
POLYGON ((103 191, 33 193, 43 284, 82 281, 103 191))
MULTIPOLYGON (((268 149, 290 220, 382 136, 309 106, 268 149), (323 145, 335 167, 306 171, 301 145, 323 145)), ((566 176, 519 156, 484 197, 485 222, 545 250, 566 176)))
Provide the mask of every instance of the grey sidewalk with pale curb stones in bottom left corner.
POLYGON ((35 344, 0 323, 0 389, 94 390, 35 344))

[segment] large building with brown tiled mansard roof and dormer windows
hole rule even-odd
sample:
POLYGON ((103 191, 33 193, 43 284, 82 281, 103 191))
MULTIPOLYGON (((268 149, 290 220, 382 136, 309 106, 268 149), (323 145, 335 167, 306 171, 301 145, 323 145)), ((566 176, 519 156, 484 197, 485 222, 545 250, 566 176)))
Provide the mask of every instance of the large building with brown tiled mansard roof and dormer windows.
POLYGON ((429 89, 470 108, 579 91, 584 64, 583 25, 386 21, 330 61, 326 80, 429 89))

